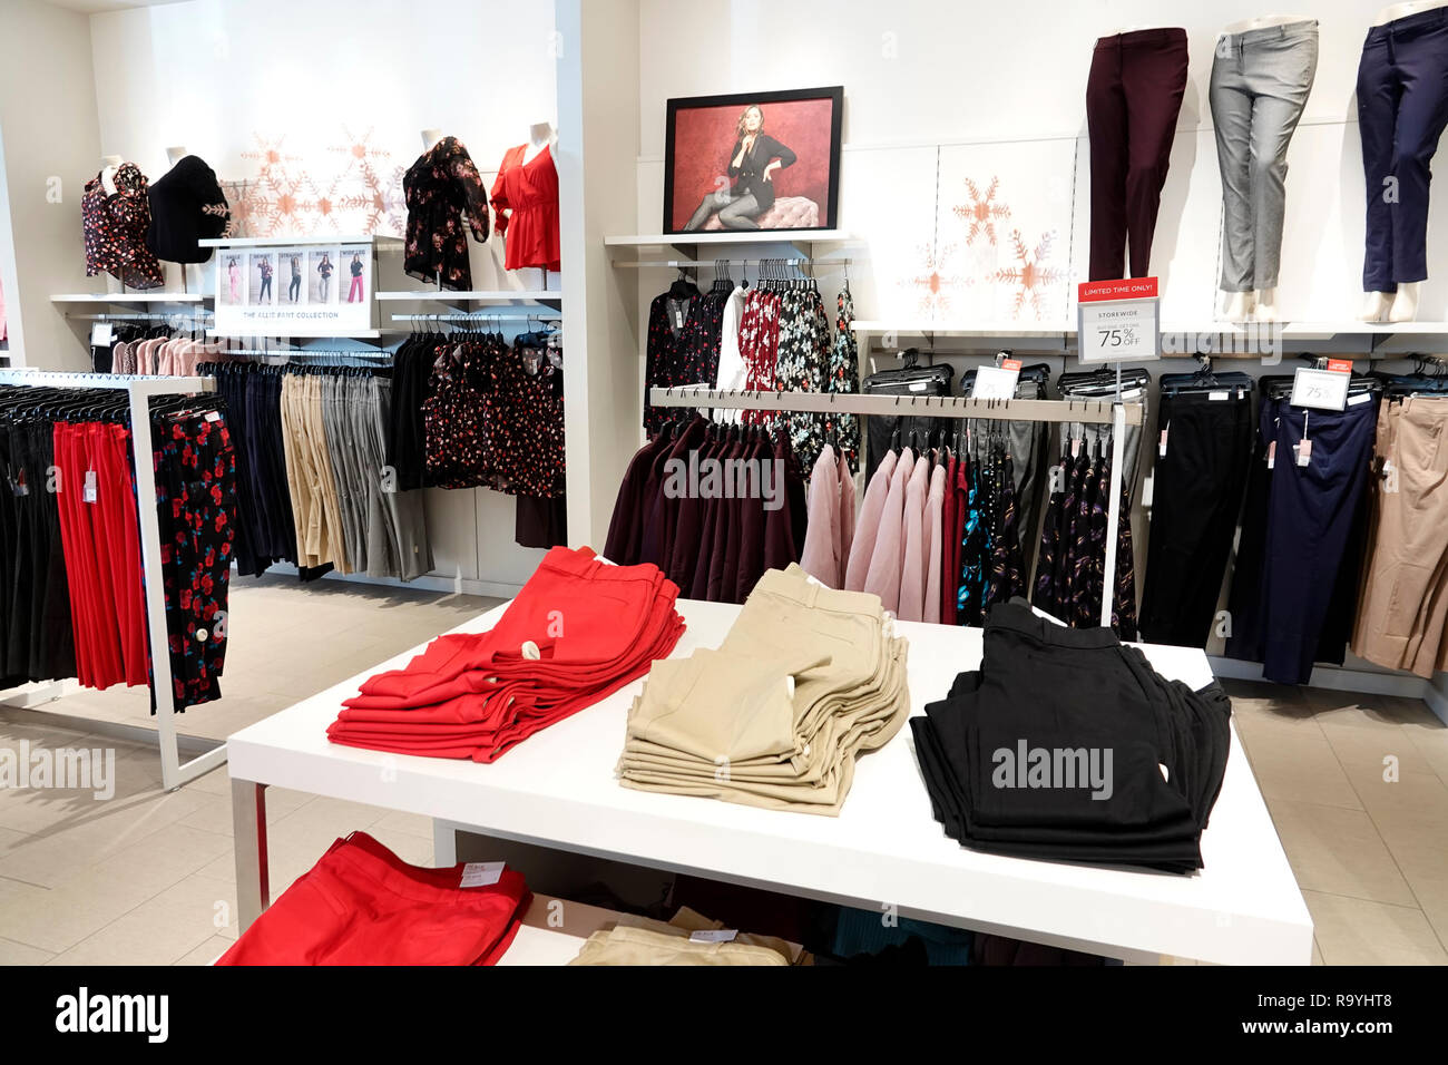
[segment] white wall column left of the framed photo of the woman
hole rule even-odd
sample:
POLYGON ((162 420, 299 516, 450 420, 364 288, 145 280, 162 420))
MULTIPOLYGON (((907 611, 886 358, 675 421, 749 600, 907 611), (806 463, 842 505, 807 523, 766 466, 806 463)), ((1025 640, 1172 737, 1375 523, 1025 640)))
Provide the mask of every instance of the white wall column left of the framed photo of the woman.
POLYGON ((556 0, 555 26, 568 539, 601 551, 643 414, 637 271, 604 248, 639 229, 639 0, 556 0))

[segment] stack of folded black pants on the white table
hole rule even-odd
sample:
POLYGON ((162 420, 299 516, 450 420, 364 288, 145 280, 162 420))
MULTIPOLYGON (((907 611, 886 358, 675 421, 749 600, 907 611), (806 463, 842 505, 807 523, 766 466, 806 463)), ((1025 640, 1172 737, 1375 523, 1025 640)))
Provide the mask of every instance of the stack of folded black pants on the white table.
POLYGON ((980 669, 912 717, 935 819, 963 845, 1047 861, 1202 868, 1231 701, 1163 680, 1109 629, 990 609, 980 669))

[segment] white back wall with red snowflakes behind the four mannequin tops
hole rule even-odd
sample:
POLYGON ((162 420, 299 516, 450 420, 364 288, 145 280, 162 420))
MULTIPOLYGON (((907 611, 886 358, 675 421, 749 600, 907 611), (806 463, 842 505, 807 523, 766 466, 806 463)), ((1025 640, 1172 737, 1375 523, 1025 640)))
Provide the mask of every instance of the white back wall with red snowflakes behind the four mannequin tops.
MULTIPOLYGON (((491 188, 529 126, 556 120, 547 3, 193 0, 97 14, 91 41, 100 151, 156 178, 167 146, 184 145, 223 181, 259 183, 253 233, 401 235, 421 129, 459 138, 491 188)), ((542 278, 505 274, 497 236, 472 245, 472 274, 476 288, 542 278)), ((430 490, 427 517, 443 577, 507 588, 542 556, 514 543, 508 496, 430 490)))

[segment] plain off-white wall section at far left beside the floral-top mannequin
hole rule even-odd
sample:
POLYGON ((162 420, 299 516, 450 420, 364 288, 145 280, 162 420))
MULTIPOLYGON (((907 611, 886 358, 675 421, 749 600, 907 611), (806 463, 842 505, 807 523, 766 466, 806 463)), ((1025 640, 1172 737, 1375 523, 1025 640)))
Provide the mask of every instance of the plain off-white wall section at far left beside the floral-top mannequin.
POLYGON ((0 4, 0 284, 14 365, 85 369, 51 294, 85 291, 81 194, 100 168, 90 23, 39 0, 0 4))

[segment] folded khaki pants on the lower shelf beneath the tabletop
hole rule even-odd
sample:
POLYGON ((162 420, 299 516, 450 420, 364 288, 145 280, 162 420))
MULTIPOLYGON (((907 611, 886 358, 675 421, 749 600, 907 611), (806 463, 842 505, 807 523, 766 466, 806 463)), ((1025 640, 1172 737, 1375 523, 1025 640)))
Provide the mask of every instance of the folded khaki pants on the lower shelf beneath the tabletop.
POLYGON ((626 917, 588 937, 569 965, 812 965, 799 946, 773 936, 736 933, 727 942, 692 939, 696 932, 718 932, 723 923, 683 907, 665 923, 626 917))

